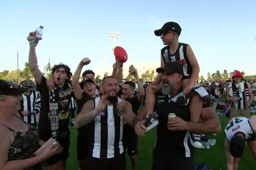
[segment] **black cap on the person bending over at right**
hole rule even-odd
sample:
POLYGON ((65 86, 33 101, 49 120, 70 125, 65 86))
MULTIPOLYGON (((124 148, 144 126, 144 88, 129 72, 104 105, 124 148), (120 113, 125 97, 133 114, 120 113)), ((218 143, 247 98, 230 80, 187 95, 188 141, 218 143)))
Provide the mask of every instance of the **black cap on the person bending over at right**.
POLYGON ((244 154, 244 137, 235 134, 230 140, 230 154, 235 158, 241 158, 244 154))

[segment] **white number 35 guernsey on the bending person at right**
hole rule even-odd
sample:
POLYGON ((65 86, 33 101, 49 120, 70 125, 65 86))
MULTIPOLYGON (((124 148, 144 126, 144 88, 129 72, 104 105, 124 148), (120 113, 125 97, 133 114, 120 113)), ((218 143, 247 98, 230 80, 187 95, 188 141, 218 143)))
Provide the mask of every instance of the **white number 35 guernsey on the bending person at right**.
POLYGON ((255 140, 255 133, 249 122, 249 119, 243 116, 235 117, 229 121, 225 130, 227 141, 230 142, 231 138, 237 133, 242 132, 245 135, 245 140, 255 140))

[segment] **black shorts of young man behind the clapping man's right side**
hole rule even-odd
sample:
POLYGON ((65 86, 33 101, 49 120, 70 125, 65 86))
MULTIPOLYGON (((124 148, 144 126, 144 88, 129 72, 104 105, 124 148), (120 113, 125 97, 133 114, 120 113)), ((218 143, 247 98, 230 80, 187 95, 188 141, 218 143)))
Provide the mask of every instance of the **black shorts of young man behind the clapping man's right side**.
POLYGON ((128 155, 138 154, 138 135, 134 131, 134 127, 130 127, 128 124, 124 125, 123 131, 123 146, 124 150, 128 148, 128 155))

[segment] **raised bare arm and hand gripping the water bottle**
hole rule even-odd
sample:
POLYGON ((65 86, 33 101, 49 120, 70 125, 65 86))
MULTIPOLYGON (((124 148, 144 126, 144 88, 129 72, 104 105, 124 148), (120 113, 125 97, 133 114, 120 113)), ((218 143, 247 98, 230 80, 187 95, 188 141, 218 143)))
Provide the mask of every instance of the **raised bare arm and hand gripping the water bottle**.
MULTIPOLYGON (((28 41, 35 39, 35 33, 31 32, 29 33, 29 36, 27 38, 28 41)), ((37 65, 37 55, 36 55, 36 47, 31 46, 29 48, 29 69, 31 70, 31 73, 33 77, 35 78, 38 85, 41 84, 42 79, 42 72, 39 70, 37 65)))

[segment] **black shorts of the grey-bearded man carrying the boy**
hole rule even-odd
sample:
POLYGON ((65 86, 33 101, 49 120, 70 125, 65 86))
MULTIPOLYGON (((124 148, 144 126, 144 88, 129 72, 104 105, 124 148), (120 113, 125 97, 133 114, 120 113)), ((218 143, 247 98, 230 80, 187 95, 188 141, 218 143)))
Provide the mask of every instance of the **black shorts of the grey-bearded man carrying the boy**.
POLYGON ((153 150, 152 170, 195 170, 194 157, 186 158, 178 152, 153 150))

